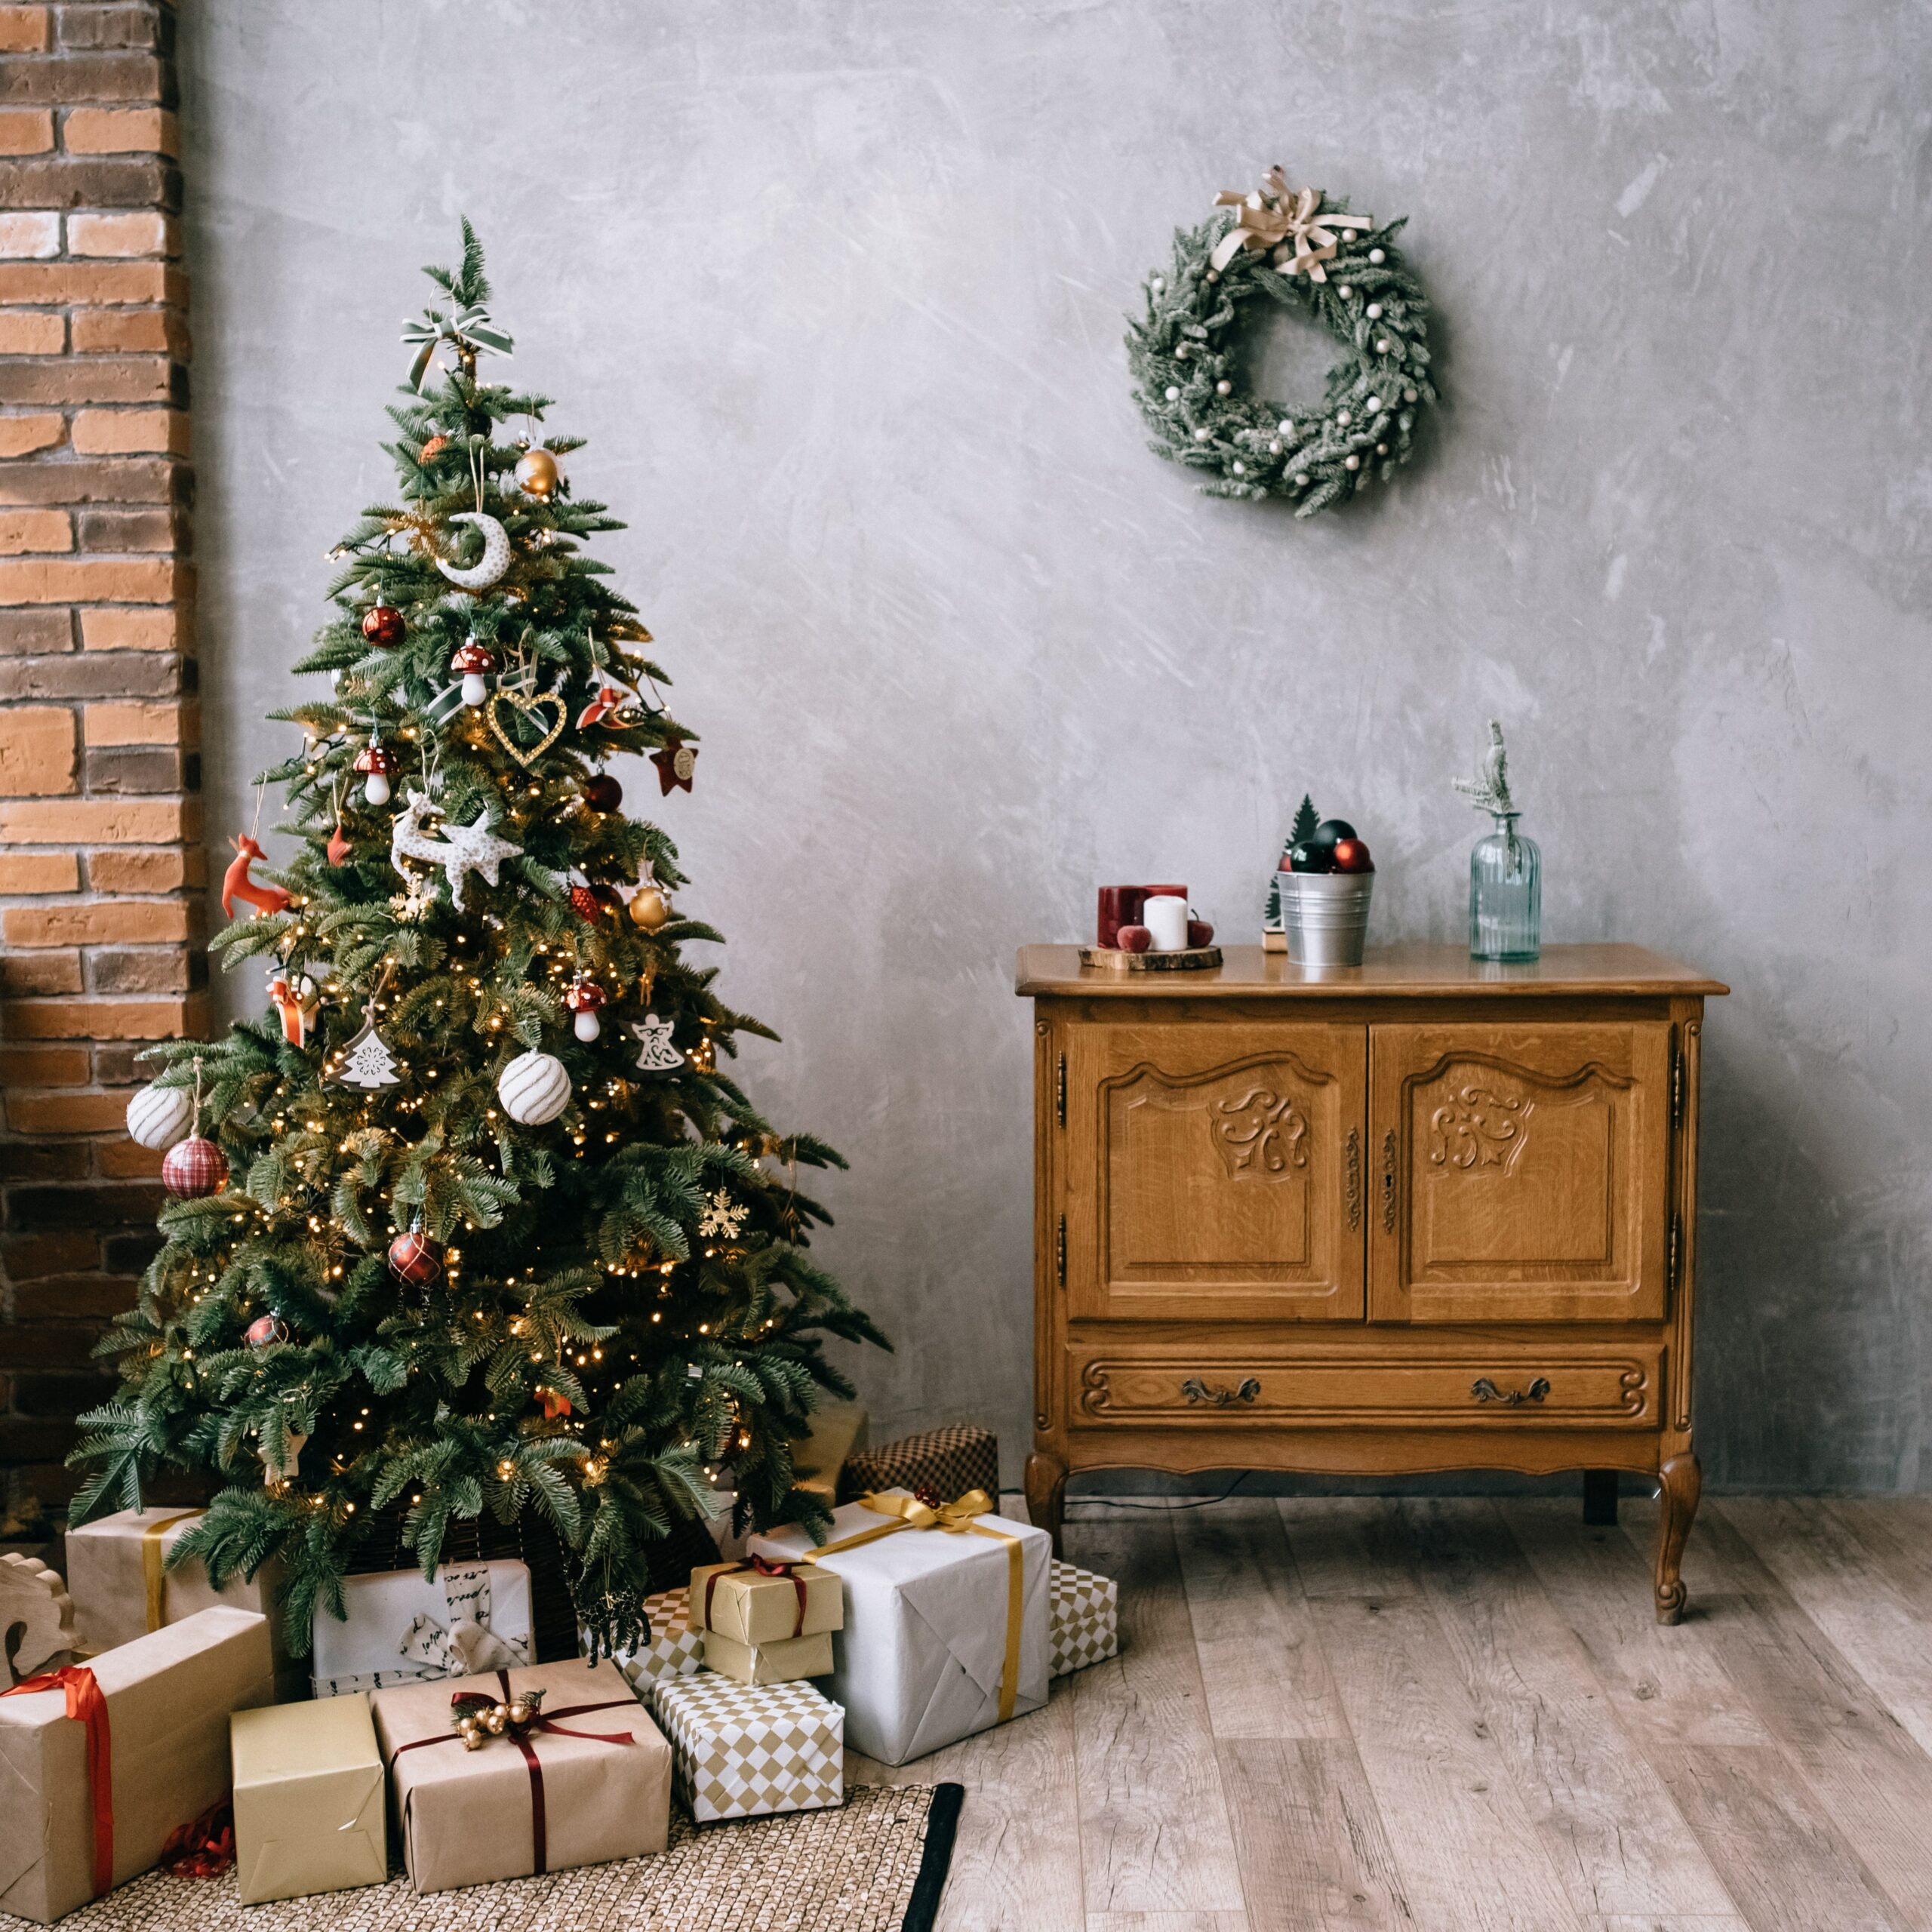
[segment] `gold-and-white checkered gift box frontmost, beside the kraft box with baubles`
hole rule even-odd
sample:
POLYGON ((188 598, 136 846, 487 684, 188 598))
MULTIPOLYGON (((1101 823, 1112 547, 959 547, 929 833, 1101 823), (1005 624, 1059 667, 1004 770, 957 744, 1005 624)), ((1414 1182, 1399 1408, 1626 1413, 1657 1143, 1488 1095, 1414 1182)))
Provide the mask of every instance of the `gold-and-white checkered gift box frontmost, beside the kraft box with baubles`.
POLYGON ((672 1787, 699 1824, 844 1803, 844 1710, 811 1685, 705 1671, 659 1679, 651 1702, 672 1787))

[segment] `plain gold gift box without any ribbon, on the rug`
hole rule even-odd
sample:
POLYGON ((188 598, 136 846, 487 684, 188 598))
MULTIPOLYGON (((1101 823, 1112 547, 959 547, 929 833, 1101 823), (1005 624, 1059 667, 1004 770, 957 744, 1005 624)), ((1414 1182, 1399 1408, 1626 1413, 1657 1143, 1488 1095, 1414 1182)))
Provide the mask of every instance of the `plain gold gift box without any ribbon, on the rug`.
POLYGON ((228 1748, 243 1905, 388 1878, 383 1752, 367 1696, 238 1710, 228 1748))

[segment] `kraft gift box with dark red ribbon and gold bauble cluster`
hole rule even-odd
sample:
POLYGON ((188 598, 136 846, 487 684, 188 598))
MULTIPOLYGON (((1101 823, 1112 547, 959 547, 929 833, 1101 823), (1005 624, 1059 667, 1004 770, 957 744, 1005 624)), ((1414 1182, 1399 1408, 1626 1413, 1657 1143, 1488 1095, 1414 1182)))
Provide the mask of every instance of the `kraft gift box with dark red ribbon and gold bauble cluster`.
POLYGON ((614 1663, 535 1663, 377 1690, 404 1861, 417 1891, 641 1859, 670 1830, 670 1747, 614 1663), (469 1750, 452 1698, 543 1692, 522 1737, 469 1750))

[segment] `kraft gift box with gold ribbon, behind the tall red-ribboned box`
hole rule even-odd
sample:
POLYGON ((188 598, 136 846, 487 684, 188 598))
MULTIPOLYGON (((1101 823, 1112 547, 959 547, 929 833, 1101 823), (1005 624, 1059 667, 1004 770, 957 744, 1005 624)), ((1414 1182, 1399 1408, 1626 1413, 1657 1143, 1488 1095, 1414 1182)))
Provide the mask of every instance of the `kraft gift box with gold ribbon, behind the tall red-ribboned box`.
POLYGON ((73 1598, 79 1646, 112 1650, 197 1609, 228 1604, 269 1619, 276 1690, 280 1696, 301 1696, 309 1671, 301 1660, 290 1658, 282 1636, 278 1565, 265 1563, 253 1578, 230 1577, 220 1590, 195 1559, 168 1569, 170 1551, 203 1515, 199 1509, 124 1509, 68 1530, 68 1596, 73 1598))

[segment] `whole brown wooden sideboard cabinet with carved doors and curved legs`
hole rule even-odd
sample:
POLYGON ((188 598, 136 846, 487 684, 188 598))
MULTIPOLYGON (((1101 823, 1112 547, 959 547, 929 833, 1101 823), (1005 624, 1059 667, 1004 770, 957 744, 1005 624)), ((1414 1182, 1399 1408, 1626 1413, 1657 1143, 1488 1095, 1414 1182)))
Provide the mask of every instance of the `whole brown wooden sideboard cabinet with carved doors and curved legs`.
POLYGON ((1662 1492, 1690 1447, 1698 1043, 1716 980, 1625 945, 1488 966, 1082 968, 1034 1001, 1034 1453, 1072 1470, 1584 1472, 1662 1492))

